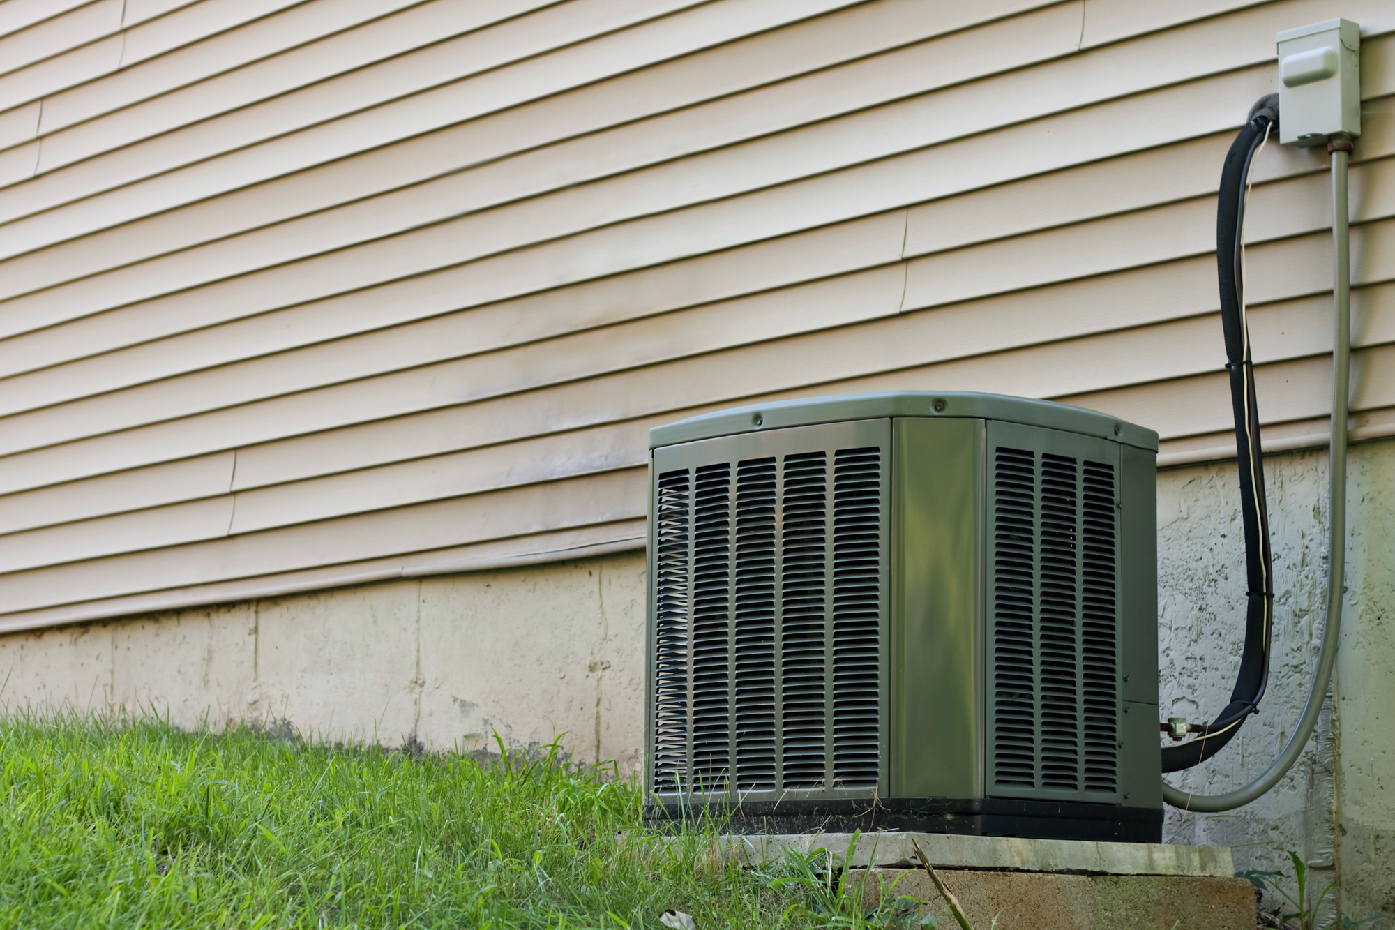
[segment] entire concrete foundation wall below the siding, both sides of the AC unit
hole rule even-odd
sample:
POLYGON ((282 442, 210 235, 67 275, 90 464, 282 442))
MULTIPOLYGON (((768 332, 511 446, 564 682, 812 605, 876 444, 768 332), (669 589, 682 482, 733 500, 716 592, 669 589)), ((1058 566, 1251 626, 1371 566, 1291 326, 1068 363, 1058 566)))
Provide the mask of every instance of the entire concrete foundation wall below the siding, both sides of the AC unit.
MULTIPOLYGON (((1172 776, 1216 792, 1258 775, 1299 716, 1322 627, 1327 455, 1265 459, 1276 626, 1269 693, 1243 735, 1172 776)), ((1233 464, 1158 475, 1165 715, 1211 718, 1243 630, 1233 464)), ((1236 814, 1169 810, 1165 838, 1235 848, 1237 869, 1342 877, 1343 913, 1395 916, 1395 443, 1353 447, 1349 605, 1336 712, 1293 772, 1236 814)), ((329 739, 488 750, 562 736, 636 771, 644 560, 585 561, 360 588, 0 637, 0 702, 155 709, 181 725, 289 721, 329 739)), ((1334 905, 1336 899, 1334 898, 1334 905)))

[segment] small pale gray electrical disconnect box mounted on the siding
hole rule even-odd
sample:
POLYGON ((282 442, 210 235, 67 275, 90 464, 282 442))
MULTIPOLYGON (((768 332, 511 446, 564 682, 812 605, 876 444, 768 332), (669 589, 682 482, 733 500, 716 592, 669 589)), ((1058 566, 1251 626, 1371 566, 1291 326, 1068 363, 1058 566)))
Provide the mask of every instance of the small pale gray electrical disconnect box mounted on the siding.
POLYGON ((1328 135, 1362 134, 1357 78, 1362 36, 1350 20, 1286 29, 1279 43, 1279 141, 1325 145, 1328 135))

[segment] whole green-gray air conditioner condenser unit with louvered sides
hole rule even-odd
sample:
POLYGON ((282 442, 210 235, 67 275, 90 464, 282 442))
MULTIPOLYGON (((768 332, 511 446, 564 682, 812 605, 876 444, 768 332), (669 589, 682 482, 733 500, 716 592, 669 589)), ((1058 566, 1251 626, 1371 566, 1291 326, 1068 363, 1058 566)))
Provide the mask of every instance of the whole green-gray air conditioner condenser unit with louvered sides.
POLYGON ((654 820, 1156 841, 1156 434, 864 394, 651 430, 654 820))

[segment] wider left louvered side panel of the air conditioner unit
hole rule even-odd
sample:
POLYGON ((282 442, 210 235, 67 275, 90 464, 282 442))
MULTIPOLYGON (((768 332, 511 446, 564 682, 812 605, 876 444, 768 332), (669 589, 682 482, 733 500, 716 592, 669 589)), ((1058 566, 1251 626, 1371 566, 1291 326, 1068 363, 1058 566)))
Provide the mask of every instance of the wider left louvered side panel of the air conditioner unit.
POLYGON ((657 793, 884 793, 889 461, 889 420, 656 450, 657 793))

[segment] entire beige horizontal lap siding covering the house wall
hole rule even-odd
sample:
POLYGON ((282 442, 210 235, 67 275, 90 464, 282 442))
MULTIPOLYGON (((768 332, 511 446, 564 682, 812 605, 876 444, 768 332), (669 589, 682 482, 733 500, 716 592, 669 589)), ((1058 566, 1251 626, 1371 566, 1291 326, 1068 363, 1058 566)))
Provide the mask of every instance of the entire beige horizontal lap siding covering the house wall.
MULTIPOLYGON (((49 68, 0 109, 0 628, 633 547, 647 430, 762 399, 999 391, 1233 454, 1215 182, 1274 32, 1331 15, 1353 437, 1395 430, 1384 3, 100 10, 0 15, 49 42, 0 74, 49 68)), ((1327 191, 1257 163, 1271 450, 1329 404, 1327 191)))

